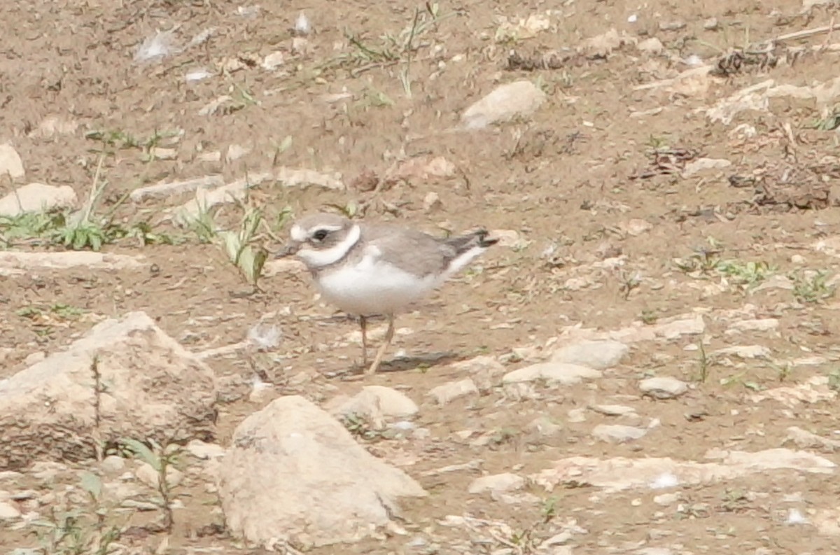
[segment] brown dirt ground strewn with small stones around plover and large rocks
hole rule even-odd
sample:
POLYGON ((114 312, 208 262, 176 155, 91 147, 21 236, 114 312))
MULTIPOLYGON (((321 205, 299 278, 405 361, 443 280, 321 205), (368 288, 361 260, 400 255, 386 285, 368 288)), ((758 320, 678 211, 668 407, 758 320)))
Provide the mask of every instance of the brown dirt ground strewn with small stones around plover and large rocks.
MULTIPOLYGON (((832 552, 836 538, 824 523, 836 495, 827 474, 685 484, 668 490, 670 501, 651 488, 606 494, 570 481, 553 491, 528 483, 518 497, 470 494, 468 485, 484 474, 531 476, 574 456, 690 462, 711 449, 790 447, 793 426, 836 434, 826 398, 792 407, 752 401, 815 377, 828 376, 828 391, 840 386, 831 247, 840 230, 840 95, 832 96, 840 39, 833 31, 767 48, 755 42, 832 24, 836 6, 363 8, 18 2, 7 10, 0 73, 14 78, 0 90, 0 142, 18 152, 25 176, 3 175, 0 196, 30 182, 68 185, 83 210, 92 191, 101 194, 87 235, 66 235, 68 224, 52 216, 0 218, 0 248, 89 250, 94 237, 105 254, 143 261, 3 266, 0 379, 105 317, 144 311, 207 354, 220 380, 223 447, 245 416, 278 395, 321 404, 362 384, 402 390, 420 405, 412 426, 423 433, 392 437, 358 422, 354 430, 430 495, 403 507, 401 533, 343 552, 832 552), (297 24, 300 13, 311 29, 297 24), (466 107, 522 79, 545 93, 535 113, 455 130, 466 107), (686 171, 701 159, 728 164, 686 171), (328 179, 292 185, 278 177, 291 170, 328 179), (130 198, 139 187, 208 175, 220 176, 208 187, 242 180, 242 194, 183 225, 167 211, 195 201, 195 191, 130 198), (358 324, 324 305, 307 273, 284 267, 255 286, 218 239, 220 231, 242 237, 257 222, 245 236, 260 259, 260 249, 270 254, 286 238, 292 217, 321 209, 440 235, 480 226, 504 240, 398 317, 390 360, 362 379, 349 371, 360 358, 349 337, 358 324), (581 329, 625 330, 617 340, 629 341, 627 329, 644 333, 685 314, 702 315, 703 332, 632 343, 628 358, 597 380, 496 380, 444 406, 427 395, 464 378, 457 363, 477 356, 518 369, 581 329), (281 330, 278 345, 225 350, 264 319, 281 330), (733 323, 768 319, 774 327, 733 323), (713 354, 756 344, 769 355, 713 354), (652 375, 692 387, 655 400, 638 390, 652 375), (624 416, 595 405, 631 406, 629 424, 648 432, 628 442, 596 439, 595 427, 624 416), (557 424, 556 433, 539 432, 540 418, 557 424), (440 471, 452 465, 465 466, 440 471), (810 526, 820 522, 815 535, 810 526), (545 543, 560 534, 556 545, 545 543)), ((134 471, 134 461, 126 464, 134 471)), ((3 476, 0 505, 18 515, 0 515, 0 547, 34 547, 35 535, 44 539, 34 521, 53 515, 55 525, 80 508, 93 516, 91 542, 118 526, 126 552, 237 547, 224 534, 212 473, 192 456, 179 464, 186 477, 174 490, 169 534, 150 526, 160 508, 150 500, 160 492, 134 479, 123 484, 119 474, 108 484, 134 495, 108 500, 118 509, 97 521, 79 486, 96 463, 3 476), (64 485, 72 495, 60 494, 64 485)))

